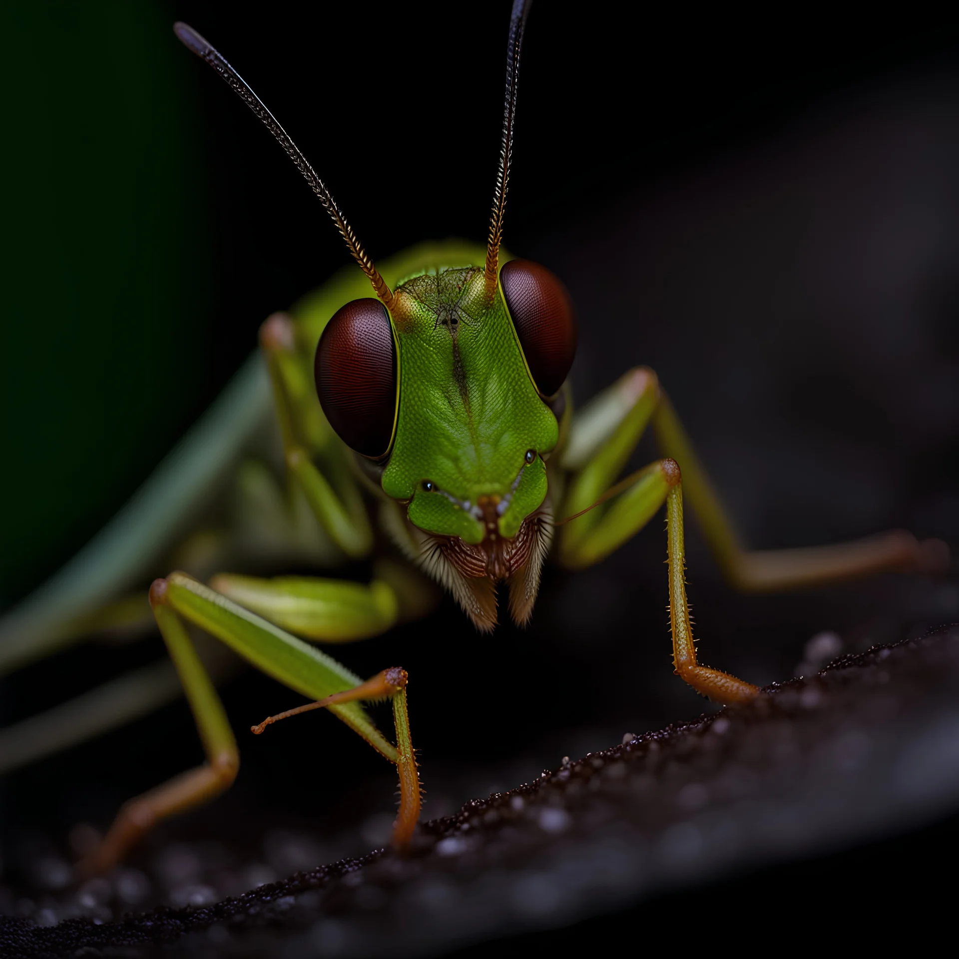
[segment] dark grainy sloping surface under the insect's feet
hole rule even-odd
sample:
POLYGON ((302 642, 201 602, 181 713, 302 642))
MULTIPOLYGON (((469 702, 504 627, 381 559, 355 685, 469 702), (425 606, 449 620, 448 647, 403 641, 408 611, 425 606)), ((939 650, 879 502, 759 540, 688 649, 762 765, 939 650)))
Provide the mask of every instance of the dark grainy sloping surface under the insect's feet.
POLYGON ((427 823, 408 858, 373 852, 114 923, 9 919, 2 954, 438 952, 826 851, 959 802, 959 626, 765 691, 468 803, 427 823))

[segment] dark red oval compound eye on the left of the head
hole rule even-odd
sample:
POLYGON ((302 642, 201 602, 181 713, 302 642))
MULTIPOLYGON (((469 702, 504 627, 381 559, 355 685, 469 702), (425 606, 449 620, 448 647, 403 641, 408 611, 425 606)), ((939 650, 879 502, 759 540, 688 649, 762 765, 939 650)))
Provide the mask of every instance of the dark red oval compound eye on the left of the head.
POLYGON ((396 349, 386 307, 372 298, 340 307, 316 346, 316 395, 339 438, 383 456, 396 414, 396 349))

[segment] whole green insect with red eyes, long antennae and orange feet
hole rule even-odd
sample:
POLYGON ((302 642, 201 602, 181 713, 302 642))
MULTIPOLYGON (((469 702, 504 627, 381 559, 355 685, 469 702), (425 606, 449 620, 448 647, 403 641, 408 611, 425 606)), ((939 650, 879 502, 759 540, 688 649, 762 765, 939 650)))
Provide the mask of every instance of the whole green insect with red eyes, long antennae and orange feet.
MULTIPOLYGON (((759 695, 759 688, 696 659, 685 585, 684 491, 716 560, 743 589, 943 565, 942 544, 920 544, 904 532, 815 549, 744 550, 648 368, 630 370, 573 411, 566 384, 576 343, 570 298, 549 270, 510 259, 501 248, 528 7, 516 0, 510 21, 502 150, 486 246, 418 246, 379 267, 269 110, 206 40, 175 26, 180 40, 280 142, 361 271, 334 278, 295 316, 267 320, 261 331, 266 363, 251 360, 98 540, 0 620, 0 667, 142 618, 143 595, 129 589, 182 539, 184 523, 230 472, 245 508, 232 546, 218 560, 241 557, 244 542, 299 560, 368 558, 378 525, 409 565, 386 559, 368 585, 238 573, 204 576, 208 585, 186 573, 157 579, 152 616, 176 676, 170 667, 151 667, 0 737, 0 767, 9 768, 155 708, 182 685, 208 762, 123 807, 82 864, 86 872, 110 868, 157 821, 213 798, 236 777, 236 739, 185 623, 310 700, 269 716, 254 732, 325 708, 396 764, 393 844, 403 850, 420 812, 407 674, 390 667, 363 682, 314 643, 360 640, 423 615, 430 587, 414 570, 448 589, 481 631, 496 625, 498 590, 508 594, 513 620, 523 623, 533 615, 550 554, 571 569, 591 566, 665 505, 675 670, 713 700, 737 703, 759 695), (244 458, 269 411, 270 391, 286 495, 269 470, 244 458), (664 458, 620 479, 647 427, 664 458), (395 744, 363 709, 363 701, 384 698, 392 703, 395 744)), ((187 542, 196 554, 198 544, 187 542)))

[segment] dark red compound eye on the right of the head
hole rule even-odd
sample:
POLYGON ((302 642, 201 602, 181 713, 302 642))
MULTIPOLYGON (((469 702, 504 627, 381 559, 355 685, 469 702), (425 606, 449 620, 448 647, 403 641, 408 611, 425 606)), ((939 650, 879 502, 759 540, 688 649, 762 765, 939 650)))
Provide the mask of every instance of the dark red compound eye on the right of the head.
POLYGON ((576 323, 566 287, 546 267, 510 260, 500 283, 533 383, 552 396, 570 372, 576 354, 576 323))

